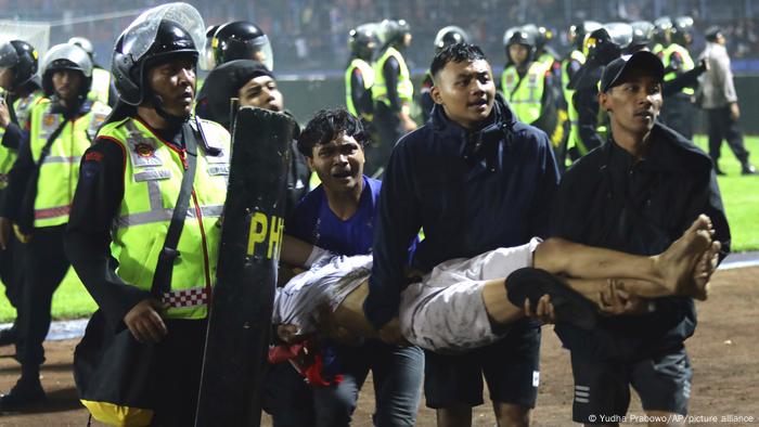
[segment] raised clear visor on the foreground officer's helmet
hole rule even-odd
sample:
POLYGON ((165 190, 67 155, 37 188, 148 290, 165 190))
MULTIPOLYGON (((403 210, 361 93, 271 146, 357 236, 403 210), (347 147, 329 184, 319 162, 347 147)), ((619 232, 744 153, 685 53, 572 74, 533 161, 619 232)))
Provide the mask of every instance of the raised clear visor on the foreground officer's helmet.
POLYGON ((204 56, 202 50, 205 46, 206 29, 203 17, 195 8, 186 3, 168 3, 143 12, 124 30, 121 52, 130 54, 136 62, 142 59, 153 46, 158 26, 164 20, 175 22, 188 31, 200 56, 204 56))

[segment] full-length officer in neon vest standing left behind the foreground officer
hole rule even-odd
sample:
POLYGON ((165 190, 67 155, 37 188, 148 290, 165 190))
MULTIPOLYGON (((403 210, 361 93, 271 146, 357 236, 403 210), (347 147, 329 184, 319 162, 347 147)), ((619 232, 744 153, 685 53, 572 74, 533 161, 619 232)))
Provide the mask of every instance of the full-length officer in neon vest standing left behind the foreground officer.
POLYGON ((50 101, 31 108, 11 169, 0 211, 0 246, 11 223, 25 243, 23 298, 18 311, 21 378, 0 397, 0 409, 18 410, 44 399, 39 367, 50 327, 52 296, 68 271, 63 233, 68 222, 79 158, 111 108, 88 99, 92 62, 85 50, 57 44, 42 61, 42 89, 50 101))

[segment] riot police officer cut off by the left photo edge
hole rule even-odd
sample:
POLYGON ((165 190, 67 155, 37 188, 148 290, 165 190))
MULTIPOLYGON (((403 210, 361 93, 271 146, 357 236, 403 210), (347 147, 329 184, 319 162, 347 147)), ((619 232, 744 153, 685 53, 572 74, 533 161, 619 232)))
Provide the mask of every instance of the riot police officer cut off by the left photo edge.
MULTIPOLYGON (((8 186, 8 174, 18 155, 21 132, 27 125, 29 111, 42 99, 37 77, 37 51, 23 40, 11 40, 0 46, 0 200, 8 186)), ((8 247, 0 249, 0 277, 5 285, 5 296, 16 311, 22 296, 23 250, 15 236, 10 237, 8 247)), ((0 346, 16 342, 17 326, 0 331, 0 346)))

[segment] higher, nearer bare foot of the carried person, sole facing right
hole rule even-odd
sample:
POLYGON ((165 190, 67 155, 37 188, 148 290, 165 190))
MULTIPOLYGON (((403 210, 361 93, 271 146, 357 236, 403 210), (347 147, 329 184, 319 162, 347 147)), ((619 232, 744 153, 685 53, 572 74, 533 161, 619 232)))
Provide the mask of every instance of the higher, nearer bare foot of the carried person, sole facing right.
POLYGON ((680 238, 655 257, 662 285, 670 295, 690 296, 694 293, 694 287, 697 287, 694 284, 694 268, 708 251, 711 234, 711 220, 700 215, 680 238))

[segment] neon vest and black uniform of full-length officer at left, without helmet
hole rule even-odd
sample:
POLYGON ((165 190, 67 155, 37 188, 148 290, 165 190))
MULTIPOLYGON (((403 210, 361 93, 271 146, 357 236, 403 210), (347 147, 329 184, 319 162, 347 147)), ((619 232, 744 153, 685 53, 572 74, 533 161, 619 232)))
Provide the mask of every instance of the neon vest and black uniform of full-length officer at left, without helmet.
POLYGON ((26 223, 28 230, 24 232, 30 235, 24 246, 24 296, 18 310, 16 353, 22 378, 27 370, 38 371, 44 361, 42 341, 50 326, 52 296, 69 267, 63 250, 63 232, 79 177, 79 159, 110 112, 107 105, 99 102, 86 101, 72 112, 43 100, 29 113, 27 142, 21 144, 18 159, 11 169, 2 206, 2 217, 26 223), (49 154, 41 158, 48 139, 64 120, 49 154), (30 183, 37 168, 37 182, 30 183), (35 184, 36 196, 31 200, 29 189, 35 184))

